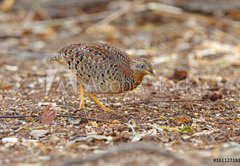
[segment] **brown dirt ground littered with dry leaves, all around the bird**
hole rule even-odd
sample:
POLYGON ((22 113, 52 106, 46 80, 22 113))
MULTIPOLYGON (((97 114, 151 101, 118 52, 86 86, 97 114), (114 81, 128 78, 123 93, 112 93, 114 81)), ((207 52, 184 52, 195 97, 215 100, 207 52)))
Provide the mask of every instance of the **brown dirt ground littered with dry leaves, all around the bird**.
POLYGON ((2 7, 0 164, 239 165, 239 8, 206 12, 207 2, 198 10, 163 2, 19 0, 2 7), (78 110, 71 74, 47 59, 82 41, 148 58, 157 78, 98 95, 116 114, 89 98, 78 110))

